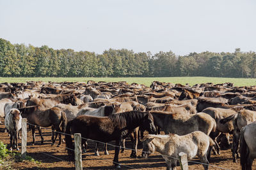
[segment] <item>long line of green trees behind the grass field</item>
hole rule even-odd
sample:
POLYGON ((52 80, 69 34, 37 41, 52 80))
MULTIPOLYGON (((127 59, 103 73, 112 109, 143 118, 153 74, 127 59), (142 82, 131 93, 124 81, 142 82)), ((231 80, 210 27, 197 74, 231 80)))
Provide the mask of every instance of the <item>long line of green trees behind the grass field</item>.
POLYGON ((256 77, 256 53, 201 52, 177 56, 172 51, 133 52, 110 48, 102 54, 49 46, 12 44, 0 38, 0 76, 58 77, 256 77))

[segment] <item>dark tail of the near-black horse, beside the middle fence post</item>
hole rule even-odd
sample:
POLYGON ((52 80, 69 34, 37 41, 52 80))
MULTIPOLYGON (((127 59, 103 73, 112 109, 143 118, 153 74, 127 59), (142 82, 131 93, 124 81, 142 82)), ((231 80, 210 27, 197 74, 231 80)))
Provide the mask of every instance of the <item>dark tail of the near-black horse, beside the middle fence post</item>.
POLYGON ((67 128, 65 131, 66 147, 68 148, 67 152, 68 152, 70 159, 72 159, 72 158, 74 159, 74 151, 73 151, 74 145, 73 145, 73 141, 71 138, 71 132, 70 132, 70 127, 72 126, 72 122, 73 122, 73 120, 71 120, 67 123, 67 128))

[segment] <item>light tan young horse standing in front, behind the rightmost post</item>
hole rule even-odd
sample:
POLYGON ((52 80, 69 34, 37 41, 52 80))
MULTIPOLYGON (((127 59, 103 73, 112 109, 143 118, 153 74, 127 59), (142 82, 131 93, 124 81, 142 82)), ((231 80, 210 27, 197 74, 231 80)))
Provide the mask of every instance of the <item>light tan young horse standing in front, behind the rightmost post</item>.
POLYGON ((176 169, 179 153, 184 152, 187 153, 188 160, 198 156, 200 162, 204 163, 204 169, 208 169, 209 165, 205 164, 209 164, 207 159, 209 155, 207 154, 209 153, 209 146, 212 145, 214 145, 214 141, 200 131, 191 132, 184 136, 148 134, 143 138, 142 157, 147 158, 150 153, 159 152, 166 161, 166 169, 176 169))

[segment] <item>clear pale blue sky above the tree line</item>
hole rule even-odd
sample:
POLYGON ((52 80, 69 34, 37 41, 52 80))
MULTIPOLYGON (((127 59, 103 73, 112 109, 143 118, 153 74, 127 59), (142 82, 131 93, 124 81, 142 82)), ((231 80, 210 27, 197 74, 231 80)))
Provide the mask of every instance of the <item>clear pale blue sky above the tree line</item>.
POLYGON ((0 38, 102 53, 256 51, 255 0, 0 0, 0 38))

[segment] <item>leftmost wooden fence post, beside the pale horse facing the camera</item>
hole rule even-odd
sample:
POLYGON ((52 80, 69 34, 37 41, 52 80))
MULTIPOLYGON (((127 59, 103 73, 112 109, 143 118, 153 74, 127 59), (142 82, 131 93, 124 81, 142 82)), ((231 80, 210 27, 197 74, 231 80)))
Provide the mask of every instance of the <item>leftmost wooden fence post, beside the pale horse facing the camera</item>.
POLYGON ((25 159, 27 155, 27 119, 22 118, 21 121, 22 136, 21 136, 21 158, 25 159))

